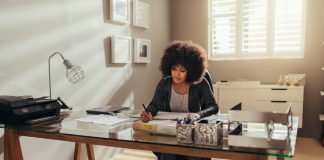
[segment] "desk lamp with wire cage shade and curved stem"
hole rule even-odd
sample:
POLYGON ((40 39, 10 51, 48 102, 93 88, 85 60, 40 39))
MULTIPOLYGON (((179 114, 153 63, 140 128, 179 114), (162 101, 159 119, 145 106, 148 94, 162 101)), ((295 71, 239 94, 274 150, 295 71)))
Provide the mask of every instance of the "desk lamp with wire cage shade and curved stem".
POLYGON ((48 80, 49 80, 49 92, 50 92, 50 99, 52 99, 52 84, 51 84, 51 58, 55 56, 56 54, 60 55, 63 64, 66 69, 66 78, 72 83, 76 84, 80 82, 84 77, 84 72, 80 66, 72 65, 72 63, 63 57, 63 55, 60 52, 55 52, 53 53, 49 58, 48 58, 48 80))

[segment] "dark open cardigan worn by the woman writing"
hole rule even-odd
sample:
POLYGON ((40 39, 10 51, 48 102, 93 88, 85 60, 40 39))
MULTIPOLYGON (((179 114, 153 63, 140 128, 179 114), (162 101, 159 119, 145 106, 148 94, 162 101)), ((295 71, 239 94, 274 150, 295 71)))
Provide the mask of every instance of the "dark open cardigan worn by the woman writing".
MULTIPOLYGON (((148 111, 153 116, 158 111, 171 112, 170 98, 171 98, 172 78, 167 76, 162 78, 156 87, 154 96, 148 105, 148 111)), ((190 84, 188 94, 189 112, 198 113, 201 118, 218 113, 218 105, 214 99, 211 87, 206 78, 198 84, 190 84)))

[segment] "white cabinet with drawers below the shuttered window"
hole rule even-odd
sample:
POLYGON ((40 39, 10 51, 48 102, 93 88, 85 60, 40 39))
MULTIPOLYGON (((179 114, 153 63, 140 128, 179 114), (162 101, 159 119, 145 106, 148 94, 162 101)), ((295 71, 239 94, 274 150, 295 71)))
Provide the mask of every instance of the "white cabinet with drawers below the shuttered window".
POLYGON ((304 86, 279 86, 260 84, 259 81, 216 82, 215 99, 221 113, 237 103, 243 110, 263 112, 284 112, 289 103, 292 112, 299 117, 298 127, 303 122, 304 86))

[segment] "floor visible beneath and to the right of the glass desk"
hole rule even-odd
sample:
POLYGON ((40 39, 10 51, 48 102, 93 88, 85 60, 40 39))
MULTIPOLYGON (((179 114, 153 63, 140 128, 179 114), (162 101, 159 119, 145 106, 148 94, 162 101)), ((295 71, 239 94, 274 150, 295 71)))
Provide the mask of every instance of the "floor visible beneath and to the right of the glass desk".
MULTIPOLYGON (((294 158, 289 160, 323 160, 324 147, 319 140, 311 138, 298 138, 294 158)), ((123 153, 115 155, 111 160, 156 160, 154 154, 150 151, 126 149, 123 153)), ((270 157, 269 160, 275 160, 270 157)), ((217 160, 217 159, 212 159, 217 160)))

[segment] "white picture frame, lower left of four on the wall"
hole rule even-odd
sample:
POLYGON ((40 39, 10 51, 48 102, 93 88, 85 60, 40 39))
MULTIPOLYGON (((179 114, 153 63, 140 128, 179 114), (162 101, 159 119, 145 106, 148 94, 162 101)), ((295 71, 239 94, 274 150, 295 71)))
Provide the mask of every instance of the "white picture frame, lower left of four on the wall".
POLYGON ((111 53, 112 63, 130 63, 132 39, 126 36, 112 36, 111 53))

